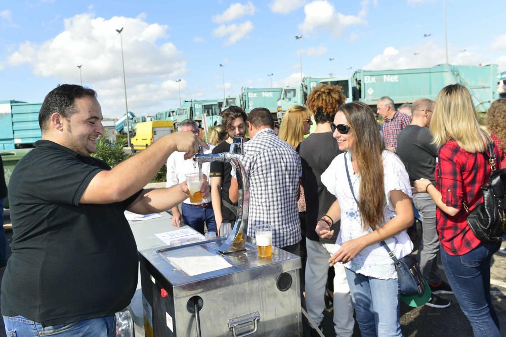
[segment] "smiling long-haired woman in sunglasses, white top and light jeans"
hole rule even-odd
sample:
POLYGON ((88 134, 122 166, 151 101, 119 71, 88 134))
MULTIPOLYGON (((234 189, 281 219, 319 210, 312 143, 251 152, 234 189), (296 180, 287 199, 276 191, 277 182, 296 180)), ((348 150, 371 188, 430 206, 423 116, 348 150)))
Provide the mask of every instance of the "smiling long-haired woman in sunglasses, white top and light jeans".
POLYGON ((322 238, 341 220, 338 250, 329 259, 343 263, 362 336, 402 336, 397 272, 385 241, 397 258, 413 243, 411 186, 399 157, 385 150, 374 113, 353 102, 341 106, 331 123, 340 150, 321 181, 336 200, 317 224, 322 238))

